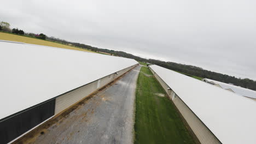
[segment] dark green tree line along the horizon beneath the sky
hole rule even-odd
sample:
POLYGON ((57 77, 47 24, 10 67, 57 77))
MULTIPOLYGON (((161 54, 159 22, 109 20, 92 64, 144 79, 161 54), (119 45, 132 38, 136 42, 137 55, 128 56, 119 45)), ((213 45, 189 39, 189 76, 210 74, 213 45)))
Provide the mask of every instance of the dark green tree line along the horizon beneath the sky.
MULTIPOLYGON (((9 27, 10 27, 10 24, 8 22, 0 22, 0 31, 11 31, 9 27)), ((17 32, 17 31, 20 31, 20 30, 18 28, 16 28, 15 32, 17 32)), ((85 44, 80 44, 80 43, 72 43, 70 41, 55 38, 55 37, 47 37, 43 33, 41 33, 41 34, 24 33, 24 35, 28 35, 30 37, 39 38, 39 39, 46 39, 49 41, 54 41, 56 43, 61 43, 61 44, 65 44, 65 45, 73 45, 73 46, 77 46, 82 49, 88 49, 91 51, 106 52, 106 53, 110 53, 110 55, 131 58, 131 59, 135 59, 136 61, 140 61, 140 62, 156 64, 156 65, 159 65, 160 67, 179 71, 179 72, 186 73, 189 75, 195 75, 195 76, 208 78, 208 79, 225 82, 225 83, 233 83, 236 86, 241 86, 241 87, 249 88, 249 89, 256 91, 256 81, 253 81, 248 78, 241 79, 241 78, 237 78, 235 76, 229 76, 226 74, 216 73, 216 72, 210 71, 210 70, 205 70, 200 67, 195 67, 193 65, 186 65, 186 64, 174 63, 174 62, 164 62, 164 61, 160 61, 158 59, 146 59, 146 58, 134 56, 130 53, 126 53, 123 51, 100 49, 100 48, 93 47, 90 45, 85 45, 85 44)))

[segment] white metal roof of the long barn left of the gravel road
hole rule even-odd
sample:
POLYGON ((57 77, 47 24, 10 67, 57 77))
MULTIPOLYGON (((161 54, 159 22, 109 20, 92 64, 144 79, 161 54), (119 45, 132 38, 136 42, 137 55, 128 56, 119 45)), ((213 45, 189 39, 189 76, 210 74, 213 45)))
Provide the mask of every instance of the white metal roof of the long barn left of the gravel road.
POLYGON ((0 41, 0 119, 134 64, 129 58, 0 41))

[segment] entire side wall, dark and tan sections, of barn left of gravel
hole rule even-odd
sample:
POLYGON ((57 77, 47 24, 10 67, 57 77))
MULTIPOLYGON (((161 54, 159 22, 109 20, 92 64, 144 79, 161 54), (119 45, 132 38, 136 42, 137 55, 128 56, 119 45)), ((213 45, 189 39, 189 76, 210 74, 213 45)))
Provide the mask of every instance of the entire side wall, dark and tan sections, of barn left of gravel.
POLYGON ((138 64, 132 65, 131 67, 117 71, 117 73, 102 77, 87 85, 15 113, 12 116, 0 119, 0 143, 14 141, 19 136, 27 133, 27 131, 38 127, 38 125, 46 122, 50 117, 65 111, 72 105, 78 103, 78 101, 88 97, 91 93, 106 86, 137 65, 138 64))

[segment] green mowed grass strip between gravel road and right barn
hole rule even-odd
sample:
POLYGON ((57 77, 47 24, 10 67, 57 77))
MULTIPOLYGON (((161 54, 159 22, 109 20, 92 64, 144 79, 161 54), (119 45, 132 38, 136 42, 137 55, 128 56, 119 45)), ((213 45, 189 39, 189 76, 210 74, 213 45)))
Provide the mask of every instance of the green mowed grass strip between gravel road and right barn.
MULTIPOLYGON (((153 75, 147 67, 143 73, 153 75)), ((136 89, 135 143, 195 143, 173 103, 155 77, 139 73, 136 89)))

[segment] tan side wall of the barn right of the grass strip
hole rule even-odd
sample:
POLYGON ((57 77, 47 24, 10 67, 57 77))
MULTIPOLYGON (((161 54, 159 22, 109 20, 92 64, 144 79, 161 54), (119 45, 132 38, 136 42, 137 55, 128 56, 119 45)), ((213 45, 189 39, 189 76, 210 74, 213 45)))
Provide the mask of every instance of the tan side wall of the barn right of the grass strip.
MULTIPOLYGON (((193 130, 194 134, 196 135, 197 139, 201 143, 221 143, 216 136, 212 134, 212 132, 206 127, 205 124, 202 123, 202 121, 195 115, 193 111, 189 109, 189 107, 182 101, 181 98, 178 97, 178 95, 172 91, 171 86, 169 87, 162 79, 158 76, 152 70, 149 68, 152 73, 154 74, 155 78, 159 81, 160 85, 165 89, 166 93, 168 94, 168 97, 173 101, 173 103, 176 105, 179 112, 182 114, 185 121, 188 123, 191 130, 193 130)), ((175 85, 175 82, 173 82, 173 85, 175 85)), ((185 89, 184 89, 185 91, 185 89)))

